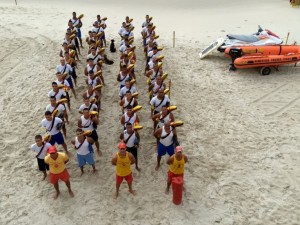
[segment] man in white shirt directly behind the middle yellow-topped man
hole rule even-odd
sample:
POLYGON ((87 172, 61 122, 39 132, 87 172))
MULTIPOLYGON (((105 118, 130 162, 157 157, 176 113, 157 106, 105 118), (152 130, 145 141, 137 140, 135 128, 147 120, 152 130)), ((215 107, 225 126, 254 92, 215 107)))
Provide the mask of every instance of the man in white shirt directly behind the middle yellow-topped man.
POLYGON ((126 130, 120 134, 120 139, 126 144, 126 151, 130 152, 135 159, 135 168, 140 171, 138 166, 138 147, 140 144, 140 135, 133 129, 132 123, 126 124, 126 130))

